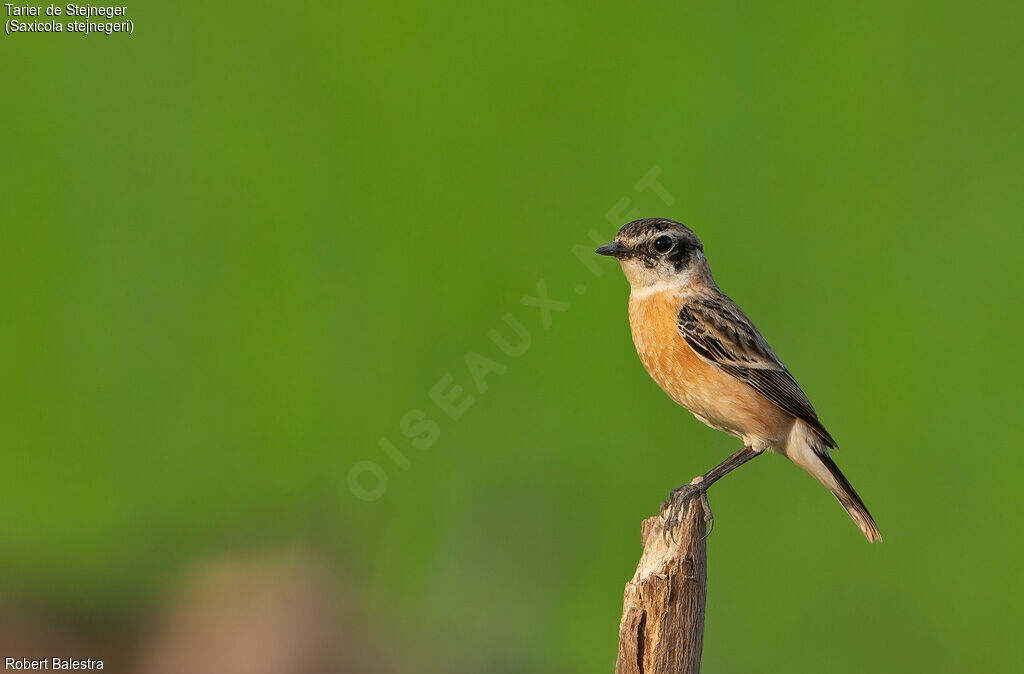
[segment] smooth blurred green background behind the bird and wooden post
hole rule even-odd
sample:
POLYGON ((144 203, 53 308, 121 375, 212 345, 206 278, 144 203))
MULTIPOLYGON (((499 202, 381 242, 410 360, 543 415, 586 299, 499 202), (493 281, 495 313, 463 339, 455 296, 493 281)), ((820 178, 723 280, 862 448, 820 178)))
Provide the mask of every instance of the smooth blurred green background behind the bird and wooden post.
POLYGON ((341 5, 0 36, 3 601, 117 624, 308 546, 406 670, 610 671, 640 520, 737 449, 572 253, 658 215, 886 538, 779 457, 716 486, 705 670, 1019 667, 1024 5, 341 5))

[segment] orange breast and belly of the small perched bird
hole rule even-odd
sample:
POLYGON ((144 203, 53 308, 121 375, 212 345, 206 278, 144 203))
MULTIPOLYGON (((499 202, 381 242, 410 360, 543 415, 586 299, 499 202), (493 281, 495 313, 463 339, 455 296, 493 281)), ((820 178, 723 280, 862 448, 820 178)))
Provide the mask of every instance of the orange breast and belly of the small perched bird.
POLYGON ((630 329, 644 368, 672 399, 709 426, 778 447, 794 418, 742 381, 705 362, 679 333, 682 300, 671 291, 630 299, 630 329))

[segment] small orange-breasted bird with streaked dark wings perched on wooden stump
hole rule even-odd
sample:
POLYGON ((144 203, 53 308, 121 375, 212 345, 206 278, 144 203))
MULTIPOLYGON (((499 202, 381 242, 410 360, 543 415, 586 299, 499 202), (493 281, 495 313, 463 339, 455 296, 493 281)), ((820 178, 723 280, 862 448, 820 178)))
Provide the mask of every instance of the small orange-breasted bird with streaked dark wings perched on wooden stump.
POLYGON ((643 218, 624 225, 596 252, 615 258, 629 281, 630 331, 647 373, 698 420, 743 443, 721 464, 672 490, 660 509, 663 532, 678 524, 695 497, 714 525, 708 488, 770 451, 824 485, 868 542, 881 541, 874 518, 830 455, 835 438, 768 341, 718 287, 696 234, 675 220, 643 218))

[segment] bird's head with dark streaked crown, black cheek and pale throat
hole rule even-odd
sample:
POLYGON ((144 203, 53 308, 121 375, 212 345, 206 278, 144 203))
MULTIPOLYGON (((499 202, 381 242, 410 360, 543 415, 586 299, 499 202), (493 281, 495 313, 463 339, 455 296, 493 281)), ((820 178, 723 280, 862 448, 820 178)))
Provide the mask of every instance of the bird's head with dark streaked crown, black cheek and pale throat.
POLYGON ((703 244, 697 236, 685 224, 664 217, 633 220, 597 253, 616 258, 634 289, 654 285, 684 288, 711 280, 703 244))

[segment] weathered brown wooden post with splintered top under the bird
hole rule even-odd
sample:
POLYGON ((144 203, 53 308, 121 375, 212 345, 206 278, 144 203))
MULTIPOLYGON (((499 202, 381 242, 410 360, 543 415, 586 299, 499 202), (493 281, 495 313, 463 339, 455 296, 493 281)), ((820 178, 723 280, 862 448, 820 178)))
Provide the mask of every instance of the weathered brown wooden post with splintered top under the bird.
POLYGON ((641 526, 643 555, 626 584, 615 674, 698 674, 703 647, 708 549, 700 499, 690 499, 672 537, 664 517, 641 526))

